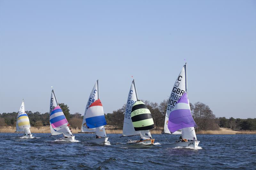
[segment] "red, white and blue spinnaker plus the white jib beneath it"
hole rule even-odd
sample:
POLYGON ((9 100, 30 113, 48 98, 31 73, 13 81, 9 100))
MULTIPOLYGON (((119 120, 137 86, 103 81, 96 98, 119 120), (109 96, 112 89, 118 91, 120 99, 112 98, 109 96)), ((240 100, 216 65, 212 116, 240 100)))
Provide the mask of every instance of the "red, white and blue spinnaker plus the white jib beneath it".
POLYGON ((106 125, 107 122, 100 99, 96 100, 89 106, 85 115, 85 120, 88 129, 96 129, 95 133, 97 136, 107 136, 104 129, 104 125, 106 125))

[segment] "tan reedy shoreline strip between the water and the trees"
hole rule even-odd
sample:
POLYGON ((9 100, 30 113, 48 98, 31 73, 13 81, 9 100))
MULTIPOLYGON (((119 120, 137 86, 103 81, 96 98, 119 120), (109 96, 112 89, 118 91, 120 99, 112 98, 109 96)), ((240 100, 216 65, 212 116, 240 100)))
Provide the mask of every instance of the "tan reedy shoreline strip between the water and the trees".
MULTIPOLYGON (((15 133, 15 126, 0 126, 0 133, 15 133)), ((50 126, 40 126, 40 127, 31 127, 30 128, 31 133, 51 133, 50 132, 50 126)), ((80 132, 80 129, 73 129, 72 133, 76 134, 80 132)), ((106 127, 106 133, 116 133, 116 134, 122 134, 122 130, 120 129, 113 129, 106 127)), ((151 134, 161 134, 162 130, 151 130, 151 134)), ((256 134, 256 131, 233 131, 227 128, 220 128, 219 131, 199 131, 196 134, 211 134, 211 135, 235 135, 235 134, 256 134)))

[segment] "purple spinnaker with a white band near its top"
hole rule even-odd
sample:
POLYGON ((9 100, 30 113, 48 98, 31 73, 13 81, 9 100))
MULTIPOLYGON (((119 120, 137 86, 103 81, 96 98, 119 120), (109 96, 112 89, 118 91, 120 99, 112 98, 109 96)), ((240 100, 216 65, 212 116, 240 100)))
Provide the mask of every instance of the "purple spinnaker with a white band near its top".
POLYGON ((189 107, 184 109, 177 109, 179 103, 185 103, 189 105, 187 92, 185 92, 178 102, 176 103, 173 111, 170 113, 169 121, 168 121, 168 129, 171 133, 178 131, 187 127, 197 127, 196 122, 194 121, 189 107))

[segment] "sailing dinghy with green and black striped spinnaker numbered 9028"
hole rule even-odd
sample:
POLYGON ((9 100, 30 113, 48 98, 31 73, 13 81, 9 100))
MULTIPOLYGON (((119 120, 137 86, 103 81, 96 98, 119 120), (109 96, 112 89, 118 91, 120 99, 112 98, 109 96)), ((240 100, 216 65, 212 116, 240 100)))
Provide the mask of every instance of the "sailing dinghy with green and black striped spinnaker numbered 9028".
POLYGON ((154 144, 155 139, 152 138, 150 129, 154 129, 151 113, 147 106, 138 99, 133 80, 126 102, 122 136, 140 135, 140 140, 129 140, 127 144, 154 144))

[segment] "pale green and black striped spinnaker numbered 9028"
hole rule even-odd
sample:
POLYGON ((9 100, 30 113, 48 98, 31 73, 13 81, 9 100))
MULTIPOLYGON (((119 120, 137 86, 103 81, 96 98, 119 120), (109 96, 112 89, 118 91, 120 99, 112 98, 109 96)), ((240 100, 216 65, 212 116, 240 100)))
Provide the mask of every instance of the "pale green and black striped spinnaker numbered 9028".
POLYGON ((138 100, 132 106, 132 124, 135 131, 154 129, 154 121, 147 106, 138 100))

